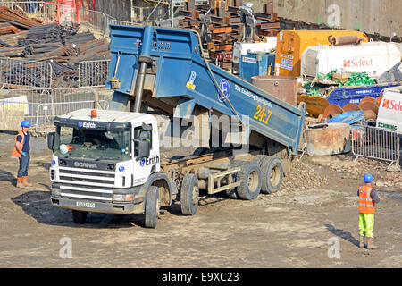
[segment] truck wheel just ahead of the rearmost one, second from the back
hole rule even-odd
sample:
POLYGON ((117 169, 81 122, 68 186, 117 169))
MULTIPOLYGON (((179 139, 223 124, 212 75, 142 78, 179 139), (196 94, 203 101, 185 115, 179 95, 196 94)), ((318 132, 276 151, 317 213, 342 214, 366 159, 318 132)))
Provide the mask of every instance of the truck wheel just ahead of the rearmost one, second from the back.
POLYGON ((236 174, 236 181, 240 181, 237 188, 239 198, 252 200, 258 197, 261 191, 261 170, 255 162, 245 162, 236 174))

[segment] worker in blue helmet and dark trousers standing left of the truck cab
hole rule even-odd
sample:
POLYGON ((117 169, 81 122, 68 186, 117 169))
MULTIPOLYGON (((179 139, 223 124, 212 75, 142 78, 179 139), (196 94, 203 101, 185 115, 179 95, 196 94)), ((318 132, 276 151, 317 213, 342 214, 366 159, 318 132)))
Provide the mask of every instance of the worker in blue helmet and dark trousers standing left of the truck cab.
POLYGON ((17 188, 25 188, 32 186, 28 182, 28 168, 29 168, 29 128, 30 122, 28 120, 24 120, 21 122, 21 131, 15 137, 14 148, 12 152, 12 156, 17 157, 20 160, 20 167, 18 168, 17 173, 17 188))

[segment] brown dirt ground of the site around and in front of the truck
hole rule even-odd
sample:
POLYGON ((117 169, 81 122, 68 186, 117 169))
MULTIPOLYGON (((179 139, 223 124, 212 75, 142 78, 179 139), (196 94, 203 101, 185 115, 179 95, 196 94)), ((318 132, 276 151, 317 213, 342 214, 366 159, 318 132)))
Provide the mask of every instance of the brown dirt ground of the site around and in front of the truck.
POLYGON ((402 267, 402 175, 350 156, 297 158, 278 193, 253 201, 203 196, 195 216, 163 208, 155 229, 142 215, 88 214, 50 205, 46 139, 32 140, 29 181, 17 189, 13 136, 0 133, 0 267, 402 267), (379 249, 357 247, 356 189, 372 172, 381 198, 379 249), (71 242, 71 258, 61 255, 71 242))

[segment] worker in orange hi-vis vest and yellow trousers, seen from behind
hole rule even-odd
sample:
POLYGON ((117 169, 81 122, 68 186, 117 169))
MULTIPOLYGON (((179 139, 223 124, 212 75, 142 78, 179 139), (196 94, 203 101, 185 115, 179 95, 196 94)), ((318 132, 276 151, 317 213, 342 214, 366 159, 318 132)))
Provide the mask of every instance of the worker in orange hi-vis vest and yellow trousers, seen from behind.
POLYGON ((380 202, 377 191, 372 188, 373 175, 364 175, 364 185, 357 190, 359 196, 359 247, 364 248, 364 236, 367 249, 376 249, 373 242, 375 205, 380 202))

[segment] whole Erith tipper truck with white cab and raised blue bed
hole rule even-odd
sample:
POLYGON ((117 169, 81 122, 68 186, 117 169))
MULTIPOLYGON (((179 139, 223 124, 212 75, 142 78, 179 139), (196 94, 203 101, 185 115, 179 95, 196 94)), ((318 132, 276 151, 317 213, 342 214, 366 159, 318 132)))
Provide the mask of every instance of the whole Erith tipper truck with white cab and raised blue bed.
POLYGON ((71 209, 75 223, 85 223, 88 212, 144 214, 144 225, 154 228, 160 206, 173 200, 182 214, 196 214, 200 190, 254 199, 281 188, 302 138, 304 103, 296 108, 209 65, 197 32, 120 25, 110 31, 112 110, 57 116, 48 136, 53 206, 71 209), (176 118, 206 116, 210 145, 212 130, 221 132, 220 144, 231 145, 163 161, 147 106, 176 118), (231 123, 237 127, 225 133, 215 115, 238 119, 231 123), (252 151, 237 156, 239 146, 252 151))

